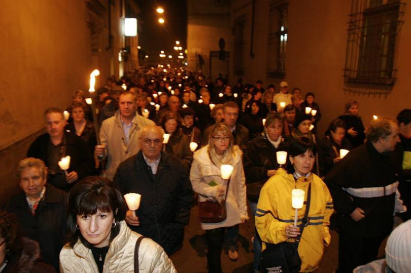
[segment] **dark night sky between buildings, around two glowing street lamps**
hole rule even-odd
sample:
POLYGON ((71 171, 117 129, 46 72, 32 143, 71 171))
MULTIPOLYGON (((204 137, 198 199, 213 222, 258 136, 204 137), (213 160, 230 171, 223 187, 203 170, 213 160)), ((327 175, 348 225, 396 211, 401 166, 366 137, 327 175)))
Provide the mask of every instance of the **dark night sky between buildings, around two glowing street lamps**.
POLYGON ((141 0, 137 3, 141 9, 139 45, 150 56, 150 63, 159 58, 161 50, 176 58, 178 54, 173 49, 176 41, 180 41, 183 50, 187 48, 186 0, 141 0), (158 14, 157 7, 163 8, 164 13, 158 14), (158 22, 160 17, 164 18, 164 24, 158 22))

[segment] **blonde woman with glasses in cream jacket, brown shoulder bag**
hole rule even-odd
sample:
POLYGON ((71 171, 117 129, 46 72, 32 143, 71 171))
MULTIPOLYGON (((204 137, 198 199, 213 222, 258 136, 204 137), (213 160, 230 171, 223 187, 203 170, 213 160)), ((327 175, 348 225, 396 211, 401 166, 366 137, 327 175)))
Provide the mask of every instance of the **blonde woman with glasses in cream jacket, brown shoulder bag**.
POLYGON ((238 224, 248 219, 246 184, 243 170, 242 153, 230 129, 218 123, 209 135, 208 145, 194 154, 190 180, 193 190, 198 193, 198 201, 226 200, 227 218, 219 223, 201 223, 207 238, 207 264, 209 272, 221 272, 221 250, 223 241, 232 260, 238 258, 238 224), (226 184, 221 179, 220 166, 229 164, 234 167, 225 197, 226 184), (224 240, 223 240, 224 239, 224 240))

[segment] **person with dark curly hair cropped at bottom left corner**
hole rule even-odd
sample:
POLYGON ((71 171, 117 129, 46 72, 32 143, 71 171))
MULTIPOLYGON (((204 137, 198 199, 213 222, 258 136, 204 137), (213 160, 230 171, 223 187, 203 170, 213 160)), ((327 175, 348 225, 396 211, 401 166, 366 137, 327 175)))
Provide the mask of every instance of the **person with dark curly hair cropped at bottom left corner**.
POLYGON ((56 272, 39 258, 39 244, 21 237, 17 220, 11 213, 0 212, 0 272, 56 272))

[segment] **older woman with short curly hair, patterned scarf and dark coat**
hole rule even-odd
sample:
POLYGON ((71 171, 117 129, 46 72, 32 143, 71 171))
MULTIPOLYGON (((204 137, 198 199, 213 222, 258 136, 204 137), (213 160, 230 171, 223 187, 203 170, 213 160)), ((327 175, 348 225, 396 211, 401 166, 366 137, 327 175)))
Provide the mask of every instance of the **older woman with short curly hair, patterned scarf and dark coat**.
POLYGON ((40 159, 20 161, 17 172, 23 192, 12 197, 6 210, 16 216, 23 236, 39 243, 44 261, 58 269, 67 194, 46 183, 47 169, 40 159))

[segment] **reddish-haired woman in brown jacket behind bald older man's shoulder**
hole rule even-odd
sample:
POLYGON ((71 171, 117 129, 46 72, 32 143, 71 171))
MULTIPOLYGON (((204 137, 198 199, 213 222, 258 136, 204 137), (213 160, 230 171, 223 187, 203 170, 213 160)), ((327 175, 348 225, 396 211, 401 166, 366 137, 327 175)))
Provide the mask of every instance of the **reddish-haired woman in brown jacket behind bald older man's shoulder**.
POLYGON ((178 112, 167 111, 161 118, 161 127, 166 134, 170 135, 168 142, 164 145, 165 151, 181 159, 190 167, 193 154, 190 150, 190 138, 181 130, 181 117, 178 112))

